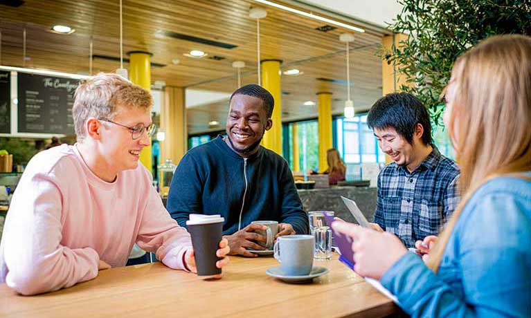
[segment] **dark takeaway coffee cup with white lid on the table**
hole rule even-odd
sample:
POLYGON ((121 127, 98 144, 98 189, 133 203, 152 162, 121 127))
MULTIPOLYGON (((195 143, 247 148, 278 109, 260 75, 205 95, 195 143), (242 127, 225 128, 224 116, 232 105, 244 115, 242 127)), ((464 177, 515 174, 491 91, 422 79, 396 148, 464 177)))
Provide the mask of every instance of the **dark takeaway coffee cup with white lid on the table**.
POLYGON ((188 232, 192 236, 198 276, 222 273, 222 269, 216 267, 216 261, 221 259, 216 256, 216 251, 219 249, 219 241, 222 240, 224 221, 219 214, 190 214, 190 220, 186 221, 188 232))

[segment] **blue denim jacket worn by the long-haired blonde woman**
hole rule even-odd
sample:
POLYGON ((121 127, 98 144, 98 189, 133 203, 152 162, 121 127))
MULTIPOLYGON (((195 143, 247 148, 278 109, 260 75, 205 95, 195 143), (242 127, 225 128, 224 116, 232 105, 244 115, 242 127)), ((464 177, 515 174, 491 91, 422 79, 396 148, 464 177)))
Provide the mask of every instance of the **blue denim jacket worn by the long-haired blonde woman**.
POLYGON ((531 182, 490 180, 462 211, 438 274, 408 252, 381 284, 412 317, 531 317, 531 182))

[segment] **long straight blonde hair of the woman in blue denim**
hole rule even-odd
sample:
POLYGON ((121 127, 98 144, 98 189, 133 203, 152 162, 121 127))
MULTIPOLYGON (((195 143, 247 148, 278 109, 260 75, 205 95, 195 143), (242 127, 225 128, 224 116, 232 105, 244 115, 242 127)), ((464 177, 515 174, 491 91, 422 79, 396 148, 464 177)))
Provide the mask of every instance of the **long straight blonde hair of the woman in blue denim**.
POLYGON ((531 170, 531 37, 489 37, 461 55, 452 73, 456 96, 447 128, 460 163, 462 200, 430 252, 434 272, 472 194, 496 176, 531 170))

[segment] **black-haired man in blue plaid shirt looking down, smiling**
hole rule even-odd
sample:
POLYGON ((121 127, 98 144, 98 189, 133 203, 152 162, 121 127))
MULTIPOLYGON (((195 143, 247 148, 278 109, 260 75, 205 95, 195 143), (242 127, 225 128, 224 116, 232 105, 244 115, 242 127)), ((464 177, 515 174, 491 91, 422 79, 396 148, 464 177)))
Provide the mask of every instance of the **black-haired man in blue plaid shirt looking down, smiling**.
POLYGON ((381 97, 367 123, 380 149, 394 161, 378 176, 372 227, 414 247, 415 241, 438 235, 456 209, 459 168, 433 145, 428 111, 410 93, 381 97))

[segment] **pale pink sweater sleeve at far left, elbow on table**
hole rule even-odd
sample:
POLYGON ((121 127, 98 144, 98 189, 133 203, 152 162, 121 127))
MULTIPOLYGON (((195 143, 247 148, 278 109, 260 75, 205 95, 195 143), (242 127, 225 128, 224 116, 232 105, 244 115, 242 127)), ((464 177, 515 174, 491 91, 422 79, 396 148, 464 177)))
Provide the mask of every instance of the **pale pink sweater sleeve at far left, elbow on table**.
POLYGON ((2 243, 6 284, 20 294, 59 290, 98 275, 95 250, 60 244, 64 199, 48 174, 24 176, 17 187, 2 243))

